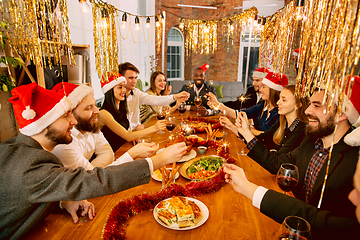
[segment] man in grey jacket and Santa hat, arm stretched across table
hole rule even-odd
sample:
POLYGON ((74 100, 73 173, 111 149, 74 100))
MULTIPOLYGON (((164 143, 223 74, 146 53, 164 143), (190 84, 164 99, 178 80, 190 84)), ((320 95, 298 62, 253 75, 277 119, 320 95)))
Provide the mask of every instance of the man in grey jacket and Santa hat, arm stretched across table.
POLYGON ((146 184, 153 170, 180 160, 186 150, 185 143, 179 143, 118 166, 68 169, 51 151, 72 141, 77 122, 69 99, 36 83, 14 88, 11 94, 20 134, 0 144, 0 239, 23 238, 56 202, 76 201, 63 205, 74 216, 83 199, 146 184))

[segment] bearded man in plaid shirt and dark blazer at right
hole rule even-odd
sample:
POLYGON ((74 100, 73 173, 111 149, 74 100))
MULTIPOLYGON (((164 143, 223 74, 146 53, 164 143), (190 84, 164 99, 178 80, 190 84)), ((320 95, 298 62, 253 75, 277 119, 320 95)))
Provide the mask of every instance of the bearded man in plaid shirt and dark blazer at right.
POLYGON ((238 132, 250 149, 248 156, 273 174, 276 174, 282 163, 298 166, 299 182, 293 190, 296 198, 249 182, 243 169, 235 165, 225 165, 226 181, 237 192, 251 199, 263 214, 279 223, 289 215, 306 219, 311 225, 313 239, 356 239, 360 236, 360 225, 356 221, 355 207, 348 195, 353 188, 359 147, 351 147, 344 142, 344 136, 353 130, 348 117, 343 112, 336 114, 334 104, 326 112, 326 106, 322 104, 323 97, 323 90, 315 91, 312 95, 310 106, 306 110, 309 118, 307 137, 297 149, 288 154, 264 153, 259 148, 260 144, 256 144, 256 138, 246 136, 248 126, 242 124, 245 123, 246 115, 241 114, 237 119, 238 132), (334 146, 326 187, 319 206, 332 143, 334 146))

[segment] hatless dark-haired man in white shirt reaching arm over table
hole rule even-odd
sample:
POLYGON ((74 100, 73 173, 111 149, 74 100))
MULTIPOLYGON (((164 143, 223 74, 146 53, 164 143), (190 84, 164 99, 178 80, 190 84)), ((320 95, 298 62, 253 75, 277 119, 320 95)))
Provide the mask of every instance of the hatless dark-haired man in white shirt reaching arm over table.
POLYGON ((168 96, 154 96, 141 92, 135 88, 140 71, 131 63, 125 62, 119 65, 119 73, 126 78, 126 101, 128 107, 128 120, 130 129, 141 130, 144 128, 140 122, 140 105, 168 106, 174 101, 184 102, 189 98, 187 92, 180 92, 168 96))

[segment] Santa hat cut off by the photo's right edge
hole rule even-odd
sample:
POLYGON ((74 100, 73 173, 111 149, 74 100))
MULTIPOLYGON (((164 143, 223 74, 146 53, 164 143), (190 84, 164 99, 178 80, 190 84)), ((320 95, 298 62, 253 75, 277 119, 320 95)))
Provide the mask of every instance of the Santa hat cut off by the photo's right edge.
POLYGON ((352 77, 354 77, 354 85, 352 87, 350 98, 348 96, 349 91, 345 91, 345 102, 348 104, 345 107, 344 113, 348 117, 351 125, 356 127, 356 129, 347 134, 344 141, 350 146, 360 146, 360 77, 350 76, 348 84, 352 77))

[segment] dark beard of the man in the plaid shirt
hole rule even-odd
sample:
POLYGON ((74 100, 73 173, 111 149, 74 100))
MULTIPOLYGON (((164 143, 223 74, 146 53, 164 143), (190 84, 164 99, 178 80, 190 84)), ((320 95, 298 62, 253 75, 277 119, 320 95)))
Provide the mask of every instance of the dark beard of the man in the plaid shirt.
POLYGON ((329 118, 327 119, 326 123, 323 124, 320 122, 319 118, 307 115, 308 118, 312 118, 318 121, 318 126, 316 128, 312 128, 311 126, 306 126, 305 133, 308 137, 313 139, 323 138, 326 136, 331 135, 335 130, 335 114, 331 114, 329 118))

